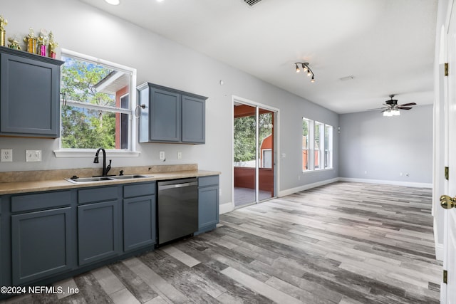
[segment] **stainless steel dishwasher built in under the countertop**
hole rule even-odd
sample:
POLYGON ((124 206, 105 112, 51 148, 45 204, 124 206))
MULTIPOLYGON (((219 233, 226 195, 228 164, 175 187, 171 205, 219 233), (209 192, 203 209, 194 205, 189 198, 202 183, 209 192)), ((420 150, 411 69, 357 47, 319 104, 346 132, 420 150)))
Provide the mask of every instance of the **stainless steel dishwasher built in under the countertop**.
POLYGON ((157 182, 157 244, 188 236, 198 230, 196 178, 157 182))

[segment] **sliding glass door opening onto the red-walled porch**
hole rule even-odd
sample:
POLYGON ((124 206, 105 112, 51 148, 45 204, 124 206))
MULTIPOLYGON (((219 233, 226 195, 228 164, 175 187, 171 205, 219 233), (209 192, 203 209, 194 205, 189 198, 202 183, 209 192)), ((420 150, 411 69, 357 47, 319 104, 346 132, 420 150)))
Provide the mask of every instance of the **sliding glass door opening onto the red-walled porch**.
POLYGON ((276 195, 275 120, 274 111, 234 104, 235 207, 276 195))

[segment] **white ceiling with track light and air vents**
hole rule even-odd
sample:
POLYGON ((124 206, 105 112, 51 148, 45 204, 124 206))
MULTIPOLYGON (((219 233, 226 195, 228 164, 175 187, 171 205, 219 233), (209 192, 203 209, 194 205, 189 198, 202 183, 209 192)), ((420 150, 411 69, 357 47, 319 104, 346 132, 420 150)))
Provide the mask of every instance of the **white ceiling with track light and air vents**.
POLYGON ((433 103, 437 0, 81 1, 338 113, 433 103))

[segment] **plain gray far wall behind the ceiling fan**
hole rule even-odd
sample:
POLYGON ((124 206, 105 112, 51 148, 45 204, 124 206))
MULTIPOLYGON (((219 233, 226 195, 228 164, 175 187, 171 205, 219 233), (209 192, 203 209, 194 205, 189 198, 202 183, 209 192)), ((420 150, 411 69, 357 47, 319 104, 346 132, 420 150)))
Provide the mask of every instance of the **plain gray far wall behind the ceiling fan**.
POLYGON ((395 117, 378 111, 340 115, 339 176, 431 184, 432 115, 432 105, 395 117))

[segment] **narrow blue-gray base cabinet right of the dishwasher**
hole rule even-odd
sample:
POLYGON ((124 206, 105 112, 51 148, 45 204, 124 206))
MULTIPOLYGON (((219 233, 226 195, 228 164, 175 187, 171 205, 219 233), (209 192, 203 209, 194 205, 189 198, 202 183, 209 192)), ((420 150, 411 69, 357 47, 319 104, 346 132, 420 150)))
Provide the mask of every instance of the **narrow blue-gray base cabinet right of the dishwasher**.
POLYGON ((215 229, 219 223, 219 176, 198 178, 198 232, 215 229))

